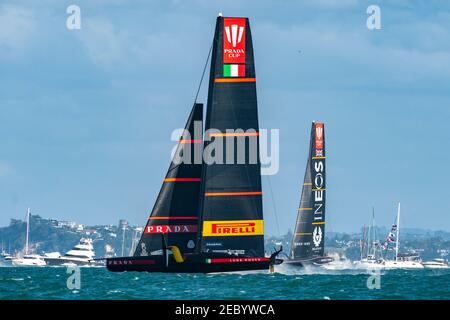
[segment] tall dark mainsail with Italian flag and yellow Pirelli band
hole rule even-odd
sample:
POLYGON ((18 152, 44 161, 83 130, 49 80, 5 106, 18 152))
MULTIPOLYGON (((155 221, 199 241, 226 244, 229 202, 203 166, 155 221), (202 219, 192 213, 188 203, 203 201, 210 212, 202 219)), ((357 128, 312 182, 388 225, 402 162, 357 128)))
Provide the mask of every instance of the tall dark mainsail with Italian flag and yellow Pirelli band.
POLYGON ((217 18, 205 130, 206 161, 212 143, 222 139, 224 145, 223 163, 203 167, 201 250, 264 256, 256 79, 247 18, 217 18), (238 161, 239 143, 245 146, 239 154, 243 162, 238 161))

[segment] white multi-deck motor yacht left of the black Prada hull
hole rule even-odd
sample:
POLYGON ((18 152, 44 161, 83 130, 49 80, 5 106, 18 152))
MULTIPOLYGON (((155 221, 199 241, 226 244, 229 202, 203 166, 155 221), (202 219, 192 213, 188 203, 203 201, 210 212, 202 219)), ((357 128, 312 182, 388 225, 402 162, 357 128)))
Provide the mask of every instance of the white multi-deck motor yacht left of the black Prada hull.
POLYGON ((94 260, 94 257, 92 239, 81 238, 80 242, 64 255, 61 256, 59 252, 51 252, 44 254, 43 259, 49 266, 95 266, 99 263, 94 260))

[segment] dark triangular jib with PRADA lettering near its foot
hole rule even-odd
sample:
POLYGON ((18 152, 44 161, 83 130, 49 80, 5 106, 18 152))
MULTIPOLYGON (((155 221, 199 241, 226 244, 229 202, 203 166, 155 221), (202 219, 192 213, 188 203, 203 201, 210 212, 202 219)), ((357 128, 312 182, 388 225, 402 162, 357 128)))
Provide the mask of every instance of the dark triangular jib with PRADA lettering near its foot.
POLYGON ((176 162, 174 157, 171 162, 135 256, 161 254, 161 234, 168 246, 177 246, 183 253, 192 253, 196 249, 202 172, 202 162, 198 161, 203 148, 202 117, 203 104, 196 103, 175 152, 175 157, 187 161, 176 162))

